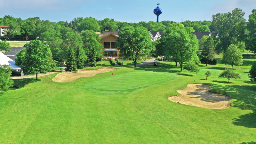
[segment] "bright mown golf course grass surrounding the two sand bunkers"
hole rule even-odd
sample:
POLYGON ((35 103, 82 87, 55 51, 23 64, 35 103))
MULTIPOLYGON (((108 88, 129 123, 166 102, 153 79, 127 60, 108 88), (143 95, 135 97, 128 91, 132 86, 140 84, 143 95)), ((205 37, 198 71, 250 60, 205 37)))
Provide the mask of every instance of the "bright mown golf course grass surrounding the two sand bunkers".
POLYGON ((0 143, 256 142, 256 84, 249 82, 248 70, 236 69, 241 79, 227 83, 218 78, 223 67, 200 64, 200 72, 190 76, 174 64, 113 66, 117 70, 112 82, 112 72, 68 83, 52 81, 57 74, 39 81, 15 80, 26 86, 0 96, 0 143), (206 70, 212 72, 209 80, 206 70), (210 91, 230 96, 230 108, 206 109, 168 100, 193 83, 211 85, 210 91))

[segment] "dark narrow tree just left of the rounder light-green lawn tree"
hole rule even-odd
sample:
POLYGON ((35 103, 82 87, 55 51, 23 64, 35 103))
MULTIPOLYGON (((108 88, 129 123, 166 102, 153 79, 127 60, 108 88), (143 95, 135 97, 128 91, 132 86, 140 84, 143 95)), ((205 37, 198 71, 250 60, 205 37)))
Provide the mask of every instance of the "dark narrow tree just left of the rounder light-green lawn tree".
POLYGON ((208 64, 209 60, 213 60, 215 57, 215 43, 213 41, 212 36, 208 36, 208 38, 206 39, 206 41, 204 42, 204 48, 202 51, 202 55, 204 56, 204 58, 206 59, 206 66, 208 64))

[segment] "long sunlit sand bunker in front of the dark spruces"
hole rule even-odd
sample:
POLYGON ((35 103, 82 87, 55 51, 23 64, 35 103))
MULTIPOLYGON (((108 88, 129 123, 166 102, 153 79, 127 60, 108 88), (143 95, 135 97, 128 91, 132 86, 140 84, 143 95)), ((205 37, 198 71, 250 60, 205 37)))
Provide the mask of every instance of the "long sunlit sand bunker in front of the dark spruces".
POLYGON ((109 68, 109 67, 101 67, 101 68, 96 68, 96 69, 83 69, 83 70, 78 70, 76 73, 72 72, 63 72, 55 77, 53 77, 54 82, 60 82, 60 83, 65 83, 65 82, 72 82, 74 80, 77 80, 80 77, 89 77, 89 76, 95 76, 96 74, 99 73, 106 73, 116 70, 116 68, 109 68))

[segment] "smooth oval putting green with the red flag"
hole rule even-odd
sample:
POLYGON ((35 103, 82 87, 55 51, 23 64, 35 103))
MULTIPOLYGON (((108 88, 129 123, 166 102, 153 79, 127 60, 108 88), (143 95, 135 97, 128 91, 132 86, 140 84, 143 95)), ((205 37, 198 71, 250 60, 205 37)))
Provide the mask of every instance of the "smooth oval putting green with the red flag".
POLYGON ((102 90, 127 90, 169 81, 174 77, 176 76, 164 72, 136 71, 114 74, 112 82, 111 76, 109 76, 89 85, 92 88, 102 90))

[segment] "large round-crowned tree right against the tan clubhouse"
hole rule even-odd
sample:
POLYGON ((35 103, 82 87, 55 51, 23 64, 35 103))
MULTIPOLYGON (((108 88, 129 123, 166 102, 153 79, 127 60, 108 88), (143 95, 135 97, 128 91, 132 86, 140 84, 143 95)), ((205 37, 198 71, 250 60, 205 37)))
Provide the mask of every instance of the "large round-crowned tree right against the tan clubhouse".
POLYGON ((145 55, 150 48, 151 36, 149 31, 142 27, 126 26, 118 33, 116 48, 125 58, 132 59, 136 67, 137 59, 145 55))

